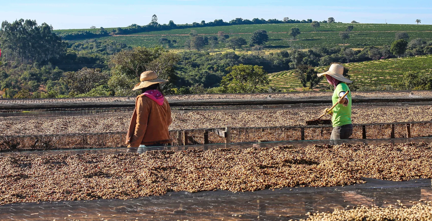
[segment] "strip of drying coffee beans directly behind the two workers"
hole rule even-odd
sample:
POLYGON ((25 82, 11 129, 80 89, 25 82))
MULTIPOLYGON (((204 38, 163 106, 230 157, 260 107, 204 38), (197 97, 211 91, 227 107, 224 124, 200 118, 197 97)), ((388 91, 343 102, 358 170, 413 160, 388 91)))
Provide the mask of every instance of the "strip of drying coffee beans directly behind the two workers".
MULTIPOLYGON (((305 125, 322 109, 172 112, 172 130, 305 125)), ((0 135, 73 134, 127 131, 132 112, 46 118, 0 118, 0 135)), ((330 119, 325 116, 323 119, 330 119)), ((353 123, 432 121, 432 106, 353 108, 353 123)))

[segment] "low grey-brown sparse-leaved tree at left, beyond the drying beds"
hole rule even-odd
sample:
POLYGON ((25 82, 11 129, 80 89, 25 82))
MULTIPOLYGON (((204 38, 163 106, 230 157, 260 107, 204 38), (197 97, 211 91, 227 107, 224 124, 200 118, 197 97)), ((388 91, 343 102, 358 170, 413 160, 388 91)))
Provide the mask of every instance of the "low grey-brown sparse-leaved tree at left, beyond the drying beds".
POLYGON ((97 86, 107 83, 108 73, 101 72, 99 68, 84 67, 76 72, 66 72, 60 80, 69 86, 72 93, 88 93, 97 86))

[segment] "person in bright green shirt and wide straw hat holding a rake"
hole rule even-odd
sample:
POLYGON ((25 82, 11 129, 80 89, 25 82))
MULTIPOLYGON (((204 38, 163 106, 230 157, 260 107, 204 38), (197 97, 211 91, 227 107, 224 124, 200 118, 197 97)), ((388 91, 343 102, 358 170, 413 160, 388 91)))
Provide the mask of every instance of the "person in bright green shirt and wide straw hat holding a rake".
POLYGON ((325 75, 327 82, 334 86, 332 96, 333 105, 339 102, 332 111, 329 108, 324 110, 325 114, 332 115, 333 131, 331 132, 331 140, 347 140, 353 134, 353 122, 351 121, 351 92, 345 97, 342 97, 349 87, 346 83, 353 83, 351 80, 343 77, 343 66, 340 64, 332 64, 330 69, 318 77, 325 75))

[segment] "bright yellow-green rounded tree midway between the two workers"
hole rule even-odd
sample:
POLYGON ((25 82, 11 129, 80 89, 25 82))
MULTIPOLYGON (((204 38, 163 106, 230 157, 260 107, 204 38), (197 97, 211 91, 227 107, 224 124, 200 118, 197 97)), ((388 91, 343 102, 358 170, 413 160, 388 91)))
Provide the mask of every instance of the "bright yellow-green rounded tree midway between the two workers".
POLYGON ((269 83, 267 72, 258 65, 239 64, 226 68, 229 73, 222 77, 223 93, 256 93, 264 92, 260 89, 269 83))

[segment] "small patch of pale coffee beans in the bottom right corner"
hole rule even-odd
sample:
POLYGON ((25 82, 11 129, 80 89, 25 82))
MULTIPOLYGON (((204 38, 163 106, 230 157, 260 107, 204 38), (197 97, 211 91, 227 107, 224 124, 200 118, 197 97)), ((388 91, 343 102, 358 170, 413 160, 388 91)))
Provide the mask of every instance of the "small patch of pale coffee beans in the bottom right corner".
MULTIPOLYGON (((401 205, 399 203, 399 205, 401 205)), ((360 206, 350 210, 336 209, 333 213, 318 213, 301 221, 430 221, 432 220, 432 202, 417 203, 410 208, 368 208, 360 206)))

